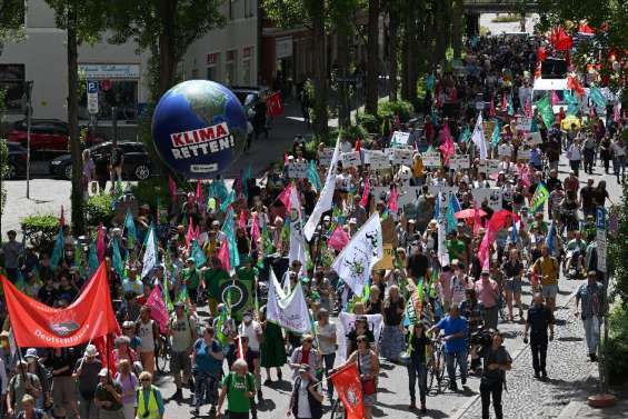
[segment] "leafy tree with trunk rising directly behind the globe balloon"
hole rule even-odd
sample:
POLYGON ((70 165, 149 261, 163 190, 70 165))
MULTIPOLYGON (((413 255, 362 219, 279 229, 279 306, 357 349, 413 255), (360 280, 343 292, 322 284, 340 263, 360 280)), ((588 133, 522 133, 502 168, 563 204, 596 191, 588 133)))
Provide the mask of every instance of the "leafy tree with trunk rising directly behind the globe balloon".
POLYGON ((152 101, 176 83, 177 64, 193 41, 222 27, 220 0, 112 0, 113 42, 132 39, 151 52, 156 67, 152 101))

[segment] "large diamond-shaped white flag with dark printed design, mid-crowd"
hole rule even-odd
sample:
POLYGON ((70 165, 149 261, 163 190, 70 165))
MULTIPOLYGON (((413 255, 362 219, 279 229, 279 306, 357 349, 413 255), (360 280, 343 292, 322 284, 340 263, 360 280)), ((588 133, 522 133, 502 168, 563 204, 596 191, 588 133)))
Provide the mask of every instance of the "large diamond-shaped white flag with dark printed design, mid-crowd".
POLYGON ((331 267, 338 277, 360 296, 368 283, 372 267, 383 257, 381 222, 379 213, 373 213, 362 228, 342 249, 331 267))

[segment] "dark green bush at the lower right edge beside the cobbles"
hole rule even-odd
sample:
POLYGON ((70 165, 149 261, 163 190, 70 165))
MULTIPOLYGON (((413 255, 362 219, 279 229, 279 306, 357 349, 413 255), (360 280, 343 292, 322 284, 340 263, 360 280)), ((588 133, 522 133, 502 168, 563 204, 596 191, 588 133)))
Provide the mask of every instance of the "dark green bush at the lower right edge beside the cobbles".
POLYGON ((611 386, 628 381, 628 305, 618 305, 608 319, 608 381, 611 386))

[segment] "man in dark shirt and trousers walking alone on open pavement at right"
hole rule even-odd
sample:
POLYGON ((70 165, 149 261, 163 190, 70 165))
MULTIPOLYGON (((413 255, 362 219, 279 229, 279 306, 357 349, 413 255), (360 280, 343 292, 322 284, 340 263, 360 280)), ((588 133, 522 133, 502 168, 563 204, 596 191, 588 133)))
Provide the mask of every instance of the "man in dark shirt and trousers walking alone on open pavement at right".
POLYGON ((547 379, 546 357, 547 357, 547 330, 549 329, 549 340, 554 340, 554 313, 544 303, 540 292, 535 293, 534 305, 528 309, 526 330, 524 331, 524 342, 528 343, 528 331, 530 331, 530 349, 532 350, 532 368, 535 378, 547 379))

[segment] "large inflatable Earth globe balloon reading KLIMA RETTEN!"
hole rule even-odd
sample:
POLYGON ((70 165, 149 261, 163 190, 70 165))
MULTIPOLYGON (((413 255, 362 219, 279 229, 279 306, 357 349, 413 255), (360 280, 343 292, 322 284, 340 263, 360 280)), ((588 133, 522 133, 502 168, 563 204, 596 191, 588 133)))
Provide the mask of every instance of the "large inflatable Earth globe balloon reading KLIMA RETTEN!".
POLYGON ((225 86, 209 80, 183 81, 159 99, 152 138, 161 160, 190 179, 225 171, 247 142, 247 117, 225 86))

